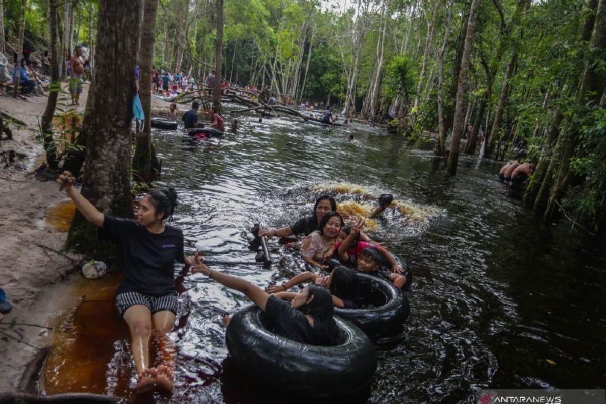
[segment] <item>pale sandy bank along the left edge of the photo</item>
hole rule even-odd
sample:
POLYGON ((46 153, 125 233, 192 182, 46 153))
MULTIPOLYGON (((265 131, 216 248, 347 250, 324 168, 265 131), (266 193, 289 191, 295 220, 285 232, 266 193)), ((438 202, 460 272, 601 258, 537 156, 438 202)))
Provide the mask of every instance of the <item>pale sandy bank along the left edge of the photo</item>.
MULTIPOLYGON (((88 88, 84 84, 81 105, 85 105, 88 88)), ((0 157, 8 150, 25 156, 7 168, 0 164, 0 287, 13 305, 0 320, 0 391, 18 387, 25 366, 49 340, 45 329, 9 323, 52 326, 55 314, 73 304, 64 281, 81 260, 77 254, 61 253, 66 234, 45 223, 48 207, 66 197, 53 180, 42 181, 34 175, 44 162, 42 144, 35 138, 48 98, 26 99, 0 97, 0 110, 27 124, 24 128, 12 125, 13 140, 0 141, 0 157)), ((152 107, 167 108, 168 102, 153 98, 152 107)))

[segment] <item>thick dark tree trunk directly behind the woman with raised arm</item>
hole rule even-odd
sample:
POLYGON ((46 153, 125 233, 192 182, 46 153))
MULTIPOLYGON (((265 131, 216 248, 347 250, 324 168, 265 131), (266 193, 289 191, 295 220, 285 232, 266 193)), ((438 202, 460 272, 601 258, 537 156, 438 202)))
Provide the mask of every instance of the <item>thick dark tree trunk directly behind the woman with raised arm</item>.
MULTIPOLYGON (((87 141, 82 195, 105 214, 132 217, 130 139, 136 94, 135 56, 141 0, 99 1, 98 68, 88 99, 82 136, 87 141), (107 85, 121 78, 121 85, 107 85)), ((76 212, 69 247, 98 248, 97 230, 76 212)))

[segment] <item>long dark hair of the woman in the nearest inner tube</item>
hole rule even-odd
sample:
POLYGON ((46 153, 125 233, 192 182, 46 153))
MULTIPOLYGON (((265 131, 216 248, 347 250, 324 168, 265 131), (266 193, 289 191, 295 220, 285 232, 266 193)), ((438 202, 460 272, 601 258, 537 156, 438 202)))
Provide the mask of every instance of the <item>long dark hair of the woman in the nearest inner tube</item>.
POLYGON ((333 298, 327 288, 320 285, 307 286, 307 299, 299 308, 303 313, 313 317, 313 340, 315 345, 335 346, 341 340, 341 329, 335 322, 333 298))

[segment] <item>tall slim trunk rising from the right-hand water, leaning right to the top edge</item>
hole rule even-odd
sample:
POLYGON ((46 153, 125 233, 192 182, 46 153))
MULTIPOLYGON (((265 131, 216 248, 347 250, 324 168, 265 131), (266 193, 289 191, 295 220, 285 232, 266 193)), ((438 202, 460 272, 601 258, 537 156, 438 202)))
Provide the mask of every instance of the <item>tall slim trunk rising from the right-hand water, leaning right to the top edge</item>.
POLYGON ((471 47, 473 46, 473 35, 476 28, 476 10, 480 0, 472 0, 467 21, 467 34, 465 35, 465 46, 461 59, 461 72, 459 73, 459 84, 456 91, 456 105, 454 107, 453 122, 453 141, 450 145, 450 154, 448 154, 448 165, 446 171, 450 175, 456 174, 456 167, 459 161, 459 142, 461 141, 461 122, 463 121, 464 91, 467 82, 467 68, 469 67, 471 57, 471 47))

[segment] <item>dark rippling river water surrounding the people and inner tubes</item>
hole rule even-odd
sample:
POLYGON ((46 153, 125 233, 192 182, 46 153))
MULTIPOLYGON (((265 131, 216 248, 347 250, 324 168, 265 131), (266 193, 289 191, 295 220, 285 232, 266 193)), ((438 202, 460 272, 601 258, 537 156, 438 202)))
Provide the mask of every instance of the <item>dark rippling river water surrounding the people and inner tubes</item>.
MULTIPOLYGON (((301 258, 271 240, 270 270, 252 263, 253 224, 290 225, 325 192, 358 213, 381 193, 398 200, 368 233, 410 259, 411 314, 404 340, 378 348, 376 377, 360 402, 473 402, 488 387, 605 387, 604 254, 567 222, 546 225, 522 208, 498 182, 500 163, 462 156, 456 177, 447 177, 431 142, 408 145, 364 125, 324 131, 288 117, 238 119, 238 134, 224 139, 154 134, 160 185, 179 193, 174 224, 187 250, 231 262, 212 268, 261 287, 283 282, 304 268, 301 258)), ((178 283, 170 402, 271 399, 271 389, 225 362, 222 314, 248 300, 201 274, 179 274, 178 283)))

